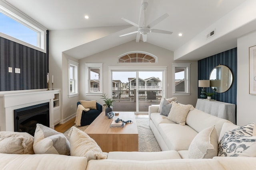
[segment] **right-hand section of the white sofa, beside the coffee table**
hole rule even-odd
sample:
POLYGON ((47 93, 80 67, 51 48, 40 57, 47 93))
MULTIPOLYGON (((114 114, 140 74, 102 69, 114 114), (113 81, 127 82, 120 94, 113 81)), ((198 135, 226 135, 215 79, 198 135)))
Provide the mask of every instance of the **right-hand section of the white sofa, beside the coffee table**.
POLYGON ((223 123, 231 123, 204 111, 193 109, 188 112, 186 125, 182 126, 170 121, 167 116, 160 115, 158 108, 158 105, 149 106, 149 125, 162 150, 188 150, 194 137, 203 129, 215 125, 220 137, 223 123))

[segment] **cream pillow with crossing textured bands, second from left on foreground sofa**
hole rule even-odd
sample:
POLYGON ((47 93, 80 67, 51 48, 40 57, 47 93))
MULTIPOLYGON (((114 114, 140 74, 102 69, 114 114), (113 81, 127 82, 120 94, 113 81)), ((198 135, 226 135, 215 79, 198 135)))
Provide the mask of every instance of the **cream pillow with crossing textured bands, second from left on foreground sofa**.
POLYGON ((70 143, 64 134, 39 123, 36 124, 33 148, 35 154, 70 155, 70 143))

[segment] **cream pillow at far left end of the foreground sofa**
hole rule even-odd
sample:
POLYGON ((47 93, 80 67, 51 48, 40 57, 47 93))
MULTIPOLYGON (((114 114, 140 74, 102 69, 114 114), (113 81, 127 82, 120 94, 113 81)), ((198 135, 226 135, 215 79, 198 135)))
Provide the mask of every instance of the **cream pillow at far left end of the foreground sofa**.
POLYGON ((0 131, 0 153, 34 154, 33 141, 26 132, 0 131))

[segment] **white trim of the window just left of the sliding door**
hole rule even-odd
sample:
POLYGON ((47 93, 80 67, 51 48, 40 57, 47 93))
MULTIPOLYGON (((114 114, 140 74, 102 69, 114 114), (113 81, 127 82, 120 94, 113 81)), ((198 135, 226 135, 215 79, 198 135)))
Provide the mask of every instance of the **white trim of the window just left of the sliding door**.
POLYGON ((102 92, 102 77, 103 77, 103 74, 102 74, 102 63, 85 63, 85 86, 86 86, 86 90, 85 90, 85 94, 90 96, 90 95, 103 95, 103 92, 102 92), (90 92, 89 88, 90 88, 90 83, 89 83, 89 80, 90 80, 90 68, 99 68, 100 69, 100 91, 99 92, 90 92))

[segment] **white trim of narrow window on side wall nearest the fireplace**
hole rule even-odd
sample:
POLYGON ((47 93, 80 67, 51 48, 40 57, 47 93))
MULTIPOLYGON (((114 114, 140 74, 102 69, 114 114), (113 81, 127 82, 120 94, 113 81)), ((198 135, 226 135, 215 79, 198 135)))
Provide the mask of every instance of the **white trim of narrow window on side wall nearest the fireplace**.
POLYGON ((75 96, 78 96, 79 93, 78 93, 78 65, 79 63, 76 63, 75 61, 72 61, 72 60, 68 60, 68 98, 72 98, 72 97, 75 97, 75 96), (74 66, 74 93, 70 93, 70 65, 71 66, 74 66))

